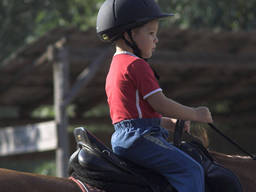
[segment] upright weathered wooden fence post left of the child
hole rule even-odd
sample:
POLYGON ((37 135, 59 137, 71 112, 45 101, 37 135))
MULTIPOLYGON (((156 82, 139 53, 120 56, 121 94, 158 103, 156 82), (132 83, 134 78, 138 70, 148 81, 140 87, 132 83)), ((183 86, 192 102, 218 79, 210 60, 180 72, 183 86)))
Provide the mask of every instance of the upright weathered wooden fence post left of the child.
POLYGON ((54 111, 57 127, 58 145, 56 149, 56 175, 67 177, 69 159, 68 116, 64 104, 69 88, 69 59, 68 48, 56 46, 53 51, 53 80, 54 80, 54 111))

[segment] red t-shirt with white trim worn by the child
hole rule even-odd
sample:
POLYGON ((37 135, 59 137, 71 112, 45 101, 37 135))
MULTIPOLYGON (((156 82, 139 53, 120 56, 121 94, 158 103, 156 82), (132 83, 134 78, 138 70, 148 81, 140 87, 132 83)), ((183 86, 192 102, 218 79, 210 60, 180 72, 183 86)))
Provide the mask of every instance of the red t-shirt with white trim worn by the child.
POLYGON ((146 99, 162 89, 149 64, 129 52, 115 54, 106 79, 112 123, 137 118, 160 118, 146 99))

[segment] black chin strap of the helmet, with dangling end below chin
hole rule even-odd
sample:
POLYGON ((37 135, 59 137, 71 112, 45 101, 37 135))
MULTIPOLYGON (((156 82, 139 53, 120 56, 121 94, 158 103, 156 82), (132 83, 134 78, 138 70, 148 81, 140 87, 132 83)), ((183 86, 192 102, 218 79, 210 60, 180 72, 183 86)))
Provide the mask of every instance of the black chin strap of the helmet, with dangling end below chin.
MULTIPOLYGON (((126 32, 127 32, 127 34, 129 35, 129 38, 130 38, 130 40, 131 40, 131 42, 128 41, 128 40, 125 38, 125 36, 122 35, 122 39, 124 40, 124 42, 126 43, 126 45, 128 45, 130 48, 132 48, 133 53, 134 53, 136 56, 138 56, 138 57, 144 59, 145 61, 148 61, 148 58, 143 58, 143 57, 141 56, 141 50, 139 49, 139 47, 137 46, 137 43, 134 41, 134 39, 133 39, 133 37, 132 37, 131 29, 127 30, 126 32)), ((159 79, 160 79, 160 76, 157 74, 156 70, 153 68, 152 65, 150 65, 150 67, 151 67, 151 69, 153 70, 156 79, 159 80, 159 79)))

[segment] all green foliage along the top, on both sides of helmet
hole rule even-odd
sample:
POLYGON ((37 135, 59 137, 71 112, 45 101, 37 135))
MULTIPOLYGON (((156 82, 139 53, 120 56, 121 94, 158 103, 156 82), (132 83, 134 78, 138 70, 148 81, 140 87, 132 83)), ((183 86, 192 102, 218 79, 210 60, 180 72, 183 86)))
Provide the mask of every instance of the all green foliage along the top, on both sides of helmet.
MULTIPOLYGON (((52 28, 94 27, 104 0, 2 0, 0 1, 0 61, 17 48, 52 28)), ((254 0, 157 0, 175 16, 167 22, 181 28, 252 30, 256 25, 254 0)))

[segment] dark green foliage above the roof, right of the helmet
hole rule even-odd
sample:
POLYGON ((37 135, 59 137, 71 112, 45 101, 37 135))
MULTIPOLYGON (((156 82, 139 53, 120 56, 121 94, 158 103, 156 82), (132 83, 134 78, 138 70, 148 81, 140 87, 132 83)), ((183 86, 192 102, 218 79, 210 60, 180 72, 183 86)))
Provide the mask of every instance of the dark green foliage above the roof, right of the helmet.
POLYGON ((161 7, 175 13, 174 25, 182 28, 251 30, 255 28, 256 1, 249 0, 159 0, 161 7))

